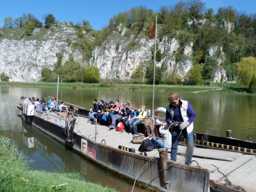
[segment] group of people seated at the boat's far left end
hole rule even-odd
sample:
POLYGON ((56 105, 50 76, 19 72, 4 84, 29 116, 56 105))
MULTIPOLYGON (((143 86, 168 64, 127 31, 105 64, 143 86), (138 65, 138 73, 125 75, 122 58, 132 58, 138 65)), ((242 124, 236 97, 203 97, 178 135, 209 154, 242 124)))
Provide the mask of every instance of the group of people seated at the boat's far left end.
POLYGON ((68 111, 68 109, 70 108, 69 106, 65 105, 65 102, 61 102, 61 105, 57 105, 57 102, 56 102, 57 99, 54 98, 52 100, 51 97, 49 97, 47 102, 45 101, 43 96, 41 97, 41 100, 39 100, 39 99, 35 100, 35 97, 26 98, 24 96, 22 96, 20 99, 22 100, 22 104, 35 105, 35 109, 39 108, 39 106, 41 106, 42 111, 47 111, 46 107, 49 108, 49 112, 56 111, 57 109, 60 109, 62 111, 68 111), (40 104, 40 105, 38 105, 38 104, 40 104))

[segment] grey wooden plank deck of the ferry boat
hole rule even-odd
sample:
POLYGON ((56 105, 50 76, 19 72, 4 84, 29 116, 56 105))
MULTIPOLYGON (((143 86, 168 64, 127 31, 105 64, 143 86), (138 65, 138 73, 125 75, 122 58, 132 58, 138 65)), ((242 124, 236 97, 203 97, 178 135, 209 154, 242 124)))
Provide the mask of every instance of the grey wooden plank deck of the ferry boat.
MULTIPOLYGON (((58 125, 65 126, 64 120, 55 119, 54 115, 56 113, 51 113, 50 118, 48 116, 47 121, 56 123, 58 125)), ((129 135, 126 132, 118 132, 115 129, 110 130, 106 126, 102 125, 91 125, 87 123, 87 118, 82 116, 75 117, 76 123, 79 122, 79 130, 78 125, 75 126, 74 132, 81 133, 81 135, 85 137, 92 137, 96 142, 101 143, 104 139, 106 145, 112 146, 114 148, 118 148, 118 145, 127 146, 130 148, 135 148, 135 153, 140 153, 138 148, 140 144, 131 143, 132 135, 129 135), (96 130, 96 131, 95 131, 96 130)), ((183 163, 185 158, 183 154, 185 154, 186 146, 179 145, 178 147, 178 155, 177 162, 183 163)), ((153 150, 146 153, 147 156, 150 157, 159 157, 158 150, 153 150)), ((171 156, 170 150, 168 153, 169 157, 171 156)), ((235 151, 224 151, 218 149, 209 149, 209 148, 194 148, 194 153, 192 160, 196 160, 199 165, 203 168, 206 168, 210 172, 210 179, 215 180, 218 183, 225 183, 225 177, 218 172, 215 168, 218 167, 219 171, 224 173, 227 178, 233 183, 233 185, 239 185, 243 187, 247 192, 256 191, 254 186, 256 186, 256 157, 253 154, 243 154, 235 151), (214 165, 214 166, 213 166, 214 165)), ((192 166, 196 166, 197 163, 193 162, 192 166)))

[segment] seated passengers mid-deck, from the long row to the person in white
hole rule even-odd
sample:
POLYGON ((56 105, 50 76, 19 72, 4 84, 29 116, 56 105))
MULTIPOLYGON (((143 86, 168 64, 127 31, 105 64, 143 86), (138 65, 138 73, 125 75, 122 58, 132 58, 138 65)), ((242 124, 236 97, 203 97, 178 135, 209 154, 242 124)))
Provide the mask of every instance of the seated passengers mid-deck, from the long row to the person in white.
POLYGON ((159 128, 162 138, 155 136, 154 125, 152 119, 147 117, 145 105, 141 105, 140 110, 137 111, 129 103, 122 102, 119 105, 119 100, 116 100, 115 103, 113 101, 108 103, 103 99, 99 102, 94 99, 89 117, 87 122, 95 125, 95 119, 97 119, 98 125, 109 124, 110 129, 115 129, 117 122, 122 121, 125 125, 125 130, 134 136, 138 136, 137 125, 143 122, 145 139, 151 139, 151 142, 158 145, 159 148, 170 148, 172 145, 172 135, 169 130, 163 129, 163 125, 159 128))

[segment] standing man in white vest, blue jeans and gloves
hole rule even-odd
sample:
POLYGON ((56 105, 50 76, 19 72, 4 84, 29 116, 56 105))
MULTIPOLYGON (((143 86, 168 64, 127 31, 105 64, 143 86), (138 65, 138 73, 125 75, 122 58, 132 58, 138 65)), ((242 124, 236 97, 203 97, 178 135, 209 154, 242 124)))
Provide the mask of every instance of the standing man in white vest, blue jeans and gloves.
POLYGON ((189 102, 181 100, 178 93, 170 93, 168 96, 170 102, 166 107, 166 122, 182 122, 179 126, 172 128, 172 150, 171 160, 177 159, 177 148, 181 133, 186 139, 185 164, 190 165, 193 155, 193 121, 196 118, 195 111, 189 102))

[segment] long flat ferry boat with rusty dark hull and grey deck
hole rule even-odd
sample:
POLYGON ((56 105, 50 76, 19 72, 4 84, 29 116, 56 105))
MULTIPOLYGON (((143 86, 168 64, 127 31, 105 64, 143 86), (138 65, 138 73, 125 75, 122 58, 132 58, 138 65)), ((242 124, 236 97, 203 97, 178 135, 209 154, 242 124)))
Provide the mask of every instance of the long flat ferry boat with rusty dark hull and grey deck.
MULTIPOLYGON (((177 162, 173 162, 170 149, 141 152, 140 144, 131 143, 132 135, 97 123, 91 125, 87 123, 89 110, 65 103, 72 111, 41 111, 40 107, 35 109, 29 104, 17 107, 27 123, 145 189, 172 192, 255 190, 256 143, 195 133, 192 164, 186 166, 182 155, 186 146, 182 139, 177 162)), ((155 125, 155 129, 158 128, 159 125, 155 125)), ((138 130, 143 130, 143 125, 139 125, 138 130)))

